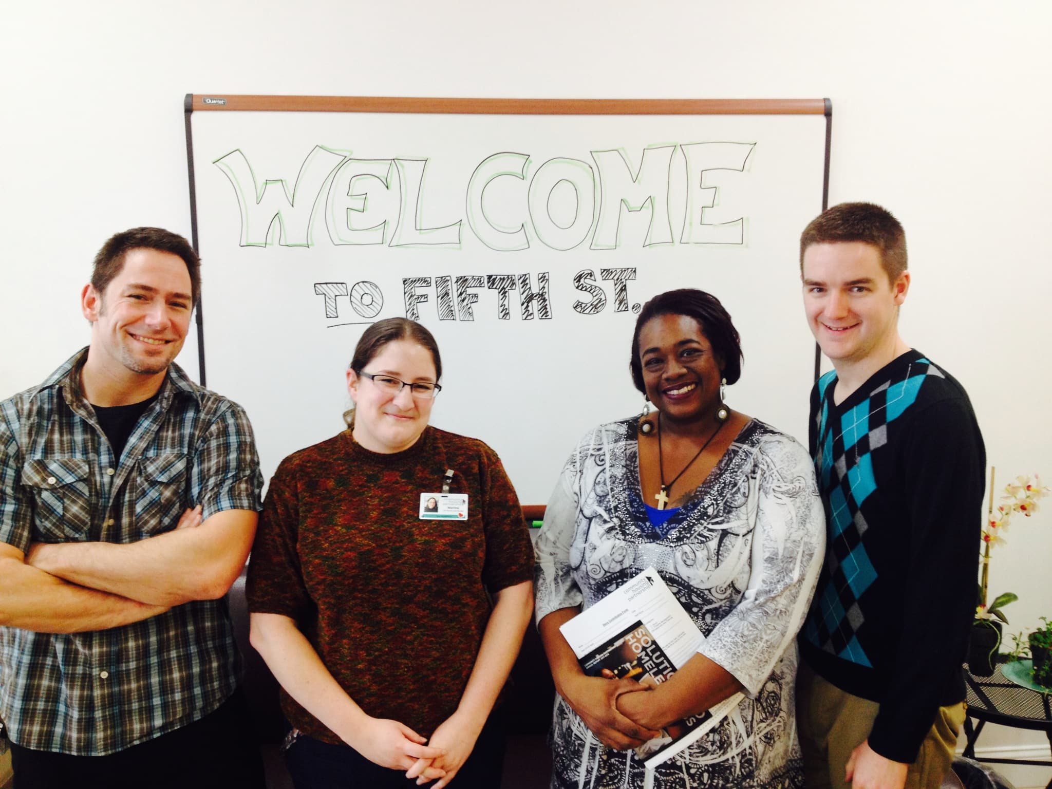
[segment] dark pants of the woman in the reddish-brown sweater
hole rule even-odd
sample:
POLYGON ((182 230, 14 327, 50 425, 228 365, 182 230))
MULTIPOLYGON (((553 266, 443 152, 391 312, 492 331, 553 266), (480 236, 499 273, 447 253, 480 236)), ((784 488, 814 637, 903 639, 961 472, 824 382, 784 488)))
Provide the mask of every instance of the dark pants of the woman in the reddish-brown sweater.
MULTIPOLYGON (((285 763, 296 789, 418 789, 417 780, 406 778, 400 770, 373 764, 349 746, 329 745, 306 734, 285 751, 285 763)), ((500 789, 503 768, 504 721, 494 712, 449 789, 500 789)))

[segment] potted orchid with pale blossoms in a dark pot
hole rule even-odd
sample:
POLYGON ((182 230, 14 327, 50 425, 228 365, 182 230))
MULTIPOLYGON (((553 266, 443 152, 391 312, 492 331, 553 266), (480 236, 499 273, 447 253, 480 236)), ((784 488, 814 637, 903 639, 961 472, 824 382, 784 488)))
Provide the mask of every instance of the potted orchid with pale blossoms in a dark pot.
POLYGON ((1008 530, 1009 522, 1015 513, 1029 518, 1037 511, 1037 500, 1049 492, 1040 484, 1040 478, 1017 477, 1015 482, 1005 486, 1000 503, 996 511, 993 507, 994 469, 990 468, 990 504, 987 509, 987 523, 983 527, 982 554, 979 558, 978 605, 975 608, 975 620, 972 622, 971 639, 968 645, 968 669, 976 676, 990 676, 994 670, 994 655, 1000 646, 1002 623, 1008 624, 1008 618, 1002 610, 1009 603, 1018 600, 1013 592, 1004 592, 987 605, 990 576, 990 549, 1003 544, 1002 534, 1008 530))

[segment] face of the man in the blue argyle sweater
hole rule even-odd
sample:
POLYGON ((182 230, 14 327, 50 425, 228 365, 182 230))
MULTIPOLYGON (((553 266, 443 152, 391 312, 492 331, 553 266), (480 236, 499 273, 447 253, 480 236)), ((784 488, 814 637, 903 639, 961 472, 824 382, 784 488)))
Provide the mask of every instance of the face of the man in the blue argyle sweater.
POLYGON ((879 250, 849 241, 809 246, 803 279, 811 332, 837 370, 851 366, 876 370, 894 359, 898 306, 909 290, 909 271, 889 282, 879 250))

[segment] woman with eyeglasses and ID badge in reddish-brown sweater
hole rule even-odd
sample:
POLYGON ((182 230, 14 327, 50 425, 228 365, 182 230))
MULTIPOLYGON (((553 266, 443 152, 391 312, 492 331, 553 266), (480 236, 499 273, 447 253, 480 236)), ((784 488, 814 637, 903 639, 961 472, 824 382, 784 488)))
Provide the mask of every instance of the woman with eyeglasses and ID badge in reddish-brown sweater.
POLYGON ((500 786, 491 712, 533 553, 493 450, 428 425, 441 377, 426 328, 372 324, 347 370, 348 429, 270 481, 250 638, 282 687, 297 789, 500 786))

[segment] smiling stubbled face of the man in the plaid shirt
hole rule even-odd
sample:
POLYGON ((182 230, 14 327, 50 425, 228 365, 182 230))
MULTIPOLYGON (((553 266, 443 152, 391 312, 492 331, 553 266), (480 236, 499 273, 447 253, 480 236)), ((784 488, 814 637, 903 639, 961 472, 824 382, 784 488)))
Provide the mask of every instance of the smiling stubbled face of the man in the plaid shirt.
POLYGON ((88 362, 114 381, 162 377, 183 347, 193 301, 186 263, 157 249, 130 249, 120 272, 99 294, 86 285, 84 317, 92 322, 88 362))

